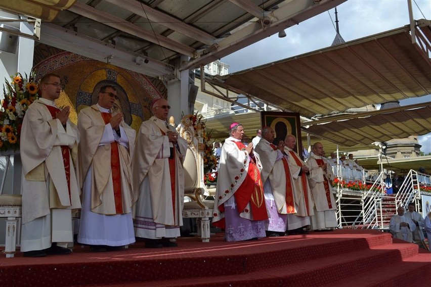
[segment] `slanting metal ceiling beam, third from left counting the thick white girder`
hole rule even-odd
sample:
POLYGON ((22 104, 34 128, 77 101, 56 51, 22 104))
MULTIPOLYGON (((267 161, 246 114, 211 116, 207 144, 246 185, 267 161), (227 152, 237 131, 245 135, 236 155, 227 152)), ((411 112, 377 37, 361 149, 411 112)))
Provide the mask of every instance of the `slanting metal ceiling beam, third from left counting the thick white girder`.
POLYGON ((129 12, 135 13, 145 19, 153 21, 157 24, 165 26, 166 28, 177 31, 183 35, 189 36, 199 42, 205 43, 207 45, 212 45, 216 37, 197 29, 191 25, 188 25, 177 18, 166 15, 160 11, 157 11, 147 5, 136 0, 105 0, 115 6, 125 9, 129 12))

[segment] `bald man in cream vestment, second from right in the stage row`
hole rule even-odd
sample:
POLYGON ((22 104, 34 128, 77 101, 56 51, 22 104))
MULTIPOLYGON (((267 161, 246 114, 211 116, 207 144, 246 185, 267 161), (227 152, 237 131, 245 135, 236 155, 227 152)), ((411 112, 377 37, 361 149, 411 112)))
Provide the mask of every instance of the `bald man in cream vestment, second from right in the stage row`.
POLYGON ((294 151, 296 137, 286 135, 284 139, 284 152, 289 155, 289 169, 292 175, 293 193, 295 196, 296 213, 287 216, 287 229, 289 234, 306 233, 310 225, 310 216, 314 215, 313 196, 308 184, 307 174, 310 173, 306 163, 294 151))

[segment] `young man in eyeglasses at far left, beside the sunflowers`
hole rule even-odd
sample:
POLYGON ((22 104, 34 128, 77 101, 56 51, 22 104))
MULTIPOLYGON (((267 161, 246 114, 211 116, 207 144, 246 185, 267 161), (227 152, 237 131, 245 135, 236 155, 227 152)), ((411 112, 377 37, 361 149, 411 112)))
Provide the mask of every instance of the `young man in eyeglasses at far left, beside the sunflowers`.
POLYGON ((26 257, 69 254, 73 243, 72 209, 81 207, 75 163, 79 132, 60 110, 60 77, 40 80, 41 98, 28 108, 21 129, 21 251, 26 257))

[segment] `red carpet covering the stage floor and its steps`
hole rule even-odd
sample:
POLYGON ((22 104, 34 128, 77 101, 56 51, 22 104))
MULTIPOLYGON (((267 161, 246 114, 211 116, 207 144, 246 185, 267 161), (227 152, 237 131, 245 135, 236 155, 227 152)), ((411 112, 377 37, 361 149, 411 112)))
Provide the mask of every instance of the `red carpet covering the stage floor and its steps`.
POLYGON ((427 286, 431 253, 377 230, 338 229, 228 243, 0 258, 0 286, 427 286))

